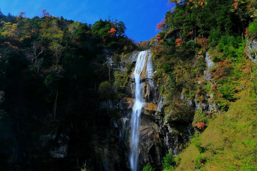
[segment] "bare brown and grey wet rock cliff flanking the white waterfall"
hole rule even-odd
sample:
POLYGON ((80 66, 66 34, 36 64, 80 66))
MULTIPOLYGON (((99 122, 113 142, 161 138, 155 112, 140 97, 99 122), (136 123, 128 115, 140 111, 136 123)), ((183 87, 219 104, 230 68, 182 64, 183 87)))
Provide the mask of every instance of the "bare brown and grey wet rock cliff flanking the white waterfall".
MULTIPOLYGON (((135 63, 138 53, 135 51, 128 54, 118 65, 110 64, 114 70, 124 72, 123 66, 126 66, 126 63, 135 63)), ((109 61, 111 62, 111 60, 109 61)), ((142 170, 144 165, 150 163, 158 171, 162 169, 162 158, 169 150, 172 150, 174 154, 179 154, 183 150, 182 144, 189 141, 193 132, 190 123, 193 116, 188 116, 189 119, 186 121, 184 121, 186 118, 184 120, 174 118, 169 122, 163 119, 165 98, 160 97, 160 88, 152 81, 152 76, 152 61, 150 52, 148 52, 146 64, 141 73, 142 98, 146 104, 140 115, 138 170, 142 170)), ((130 170, 129 122, 134 104, 134 89, 135 83, 133 74, 131 74, 126 86, 126 94, 130 98, 102 101, 99 104, 99 108, 102 110, 117 109, 120 114, 118 119, 110 122, 108 133, 105 137, 101 137, 102 142, 99 142, 97 138, 92 141, 93 154, 98 161, 98 164, 92 167, 93 170, 130 170)), ((186 104, 190 110, 196 108, 194 101, 188 101, 186 104)), ((172 117, 170 116, 170 118, 172 117)))

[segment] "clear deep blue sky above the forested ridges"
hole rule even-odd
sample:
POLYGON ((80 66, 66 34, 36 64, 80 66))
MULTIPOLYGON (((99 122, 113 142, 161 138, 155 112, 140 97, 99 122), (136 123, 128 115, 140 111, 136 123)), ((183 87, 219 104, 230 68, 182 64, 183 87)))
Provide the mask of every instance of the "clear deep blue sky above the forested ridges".
POLYGON ((44 8, 50 15, 88 24, 111 16, 126 24, 128 37, 143 41, 157 34, 156 24, 170 9, 167 3, 168 0, 1 0, 0 9, 5 15, 25 11, 25 16, 32 18, 44 8))

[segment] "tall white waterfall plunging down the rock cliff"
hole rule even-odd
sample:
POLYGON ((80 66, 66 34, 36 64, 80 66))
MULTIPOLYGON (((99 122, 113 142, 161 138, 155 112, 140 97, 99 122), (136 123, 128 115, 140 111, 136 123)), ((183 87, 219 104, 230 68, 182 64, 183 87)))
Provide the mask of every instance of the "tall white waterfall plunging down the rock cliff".
POLYGON ((130 166, 132 171, 137 170, 137 161, 138 161, 138 139, 139 139, 139 133, 138 133, 138 122, 139 122, 139 116, 141 113, 141 109, 144 105, 142 102, 142 82, 141 82, 141 72, 144 68, 144 64, 146 63, 146 55, 147 50, 142 51, 138 54, 138 58, 136 60, 135 70, 134 70, 134 79, 135 79, 135 101, 134 106, 132 109, 132 116, 130 121, 130 127, 131 127, 131 135, 130 135, 130 148, 131 148, 131 154, 130 154, 130 166))

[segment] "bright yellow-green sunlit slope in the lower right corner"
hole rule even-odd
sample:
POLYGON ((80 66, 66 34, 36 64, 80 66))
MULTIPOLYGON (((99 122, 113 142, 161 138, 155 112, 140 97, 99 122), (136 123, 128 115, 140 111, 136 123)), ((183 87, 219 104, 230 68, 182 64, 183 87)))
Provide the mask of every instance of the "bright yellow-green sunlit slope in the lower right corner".
MULTIPOLYGON (((256 78, 256 65, 251 65, 256 78)), ((243 83, 246 87, 235 94, 238 100, 230 103, 229 110, 210 121, 204 132, 194 137, 189 147, 177 156, 181 160, 176 170, 257 170, 257 102, 247 68, 245 59, 233 66, 233 73, 227 79, 235 77, 234 84, 243 83)))

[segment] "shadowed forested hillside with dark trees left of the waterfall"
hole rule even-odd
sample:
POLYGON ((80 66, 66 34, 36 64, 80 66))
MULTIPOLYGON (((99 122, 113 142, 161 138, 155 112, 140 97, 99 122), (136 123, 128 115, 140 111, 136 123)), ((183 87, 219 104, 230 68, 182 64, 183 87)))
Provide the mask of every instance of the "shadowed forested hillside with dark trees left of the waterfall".
POLYGON ((40 16, 24 16, 0 11, 0 170, 78 170, 76 161, 88 158, 94 166, 92 137, 104 139, 108 121, 117 115, 97 105, 103 94, 119 97, 103 51, 111 50, 119 61, 118 54, 136 46, 122 21, 92 25, 45 9, 40 16), (50 134, 46 148, 42 135, 50 134), (49 152, 63 134, 70 134, 64 143, 71 140, 64 161, 49 152))

